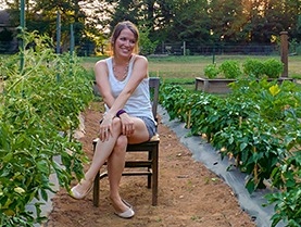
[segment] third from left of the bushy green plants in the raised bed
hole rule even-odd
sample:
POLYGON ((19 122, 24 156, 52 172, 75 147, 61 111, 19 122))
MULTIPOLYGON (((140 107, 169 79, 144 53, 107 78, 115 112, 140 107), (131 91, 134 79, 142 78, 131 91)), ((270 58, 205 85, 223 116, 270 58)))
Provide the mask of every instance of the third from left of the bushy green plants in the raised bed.
POLYGON ((264 75, 264 64, 258 59, 247 59, 242 64, 242 70, 250 77, 261 78, 264 75))

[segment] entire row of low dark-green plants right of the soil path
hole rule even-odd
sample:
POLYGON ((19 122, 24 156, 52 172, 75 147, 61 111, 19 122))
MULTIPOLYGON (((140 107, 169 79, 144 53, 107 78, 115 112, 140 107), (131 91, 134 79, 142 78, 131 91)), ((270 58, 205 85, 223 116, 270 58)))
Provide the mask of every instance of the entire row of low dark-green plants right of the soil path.
POLYGON ((160 102, 171 118, 186 123, 192 135, 205 135, 230 167, 248 174, 250 193, 267 187, 275 204, 272 226, 301 223, 301 88, 291 83, 239 79, 227 98, 163 85, 160 102))

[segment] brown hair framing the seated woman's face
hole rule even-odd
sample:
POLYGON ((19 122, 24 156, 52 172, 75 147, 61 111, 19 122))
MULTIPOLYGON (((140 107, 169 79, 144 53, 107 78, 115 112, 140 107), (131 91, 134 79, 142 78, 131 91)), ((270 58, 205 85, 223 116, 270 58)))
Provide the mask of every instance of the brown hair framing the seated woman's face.
POLYGON ((113 33, 111 35, 110 38, 110 42, 111 42, 111 54, 114 54, 114 45, 116 42, 116 39, 118 38, 118 36, 121 35, 123 29, 128 28, 135 37, 135 48, 134 48, 134 53, 138 53, 139 52, 139 46, 138 46, 138 41, 139 41, 139 31, 138 28, 136 27, 135 24, 133 24, 129 21, 124 21, 124 22, 120 22, 118 24, 116 24, 116 26, 113 29, 113 33))

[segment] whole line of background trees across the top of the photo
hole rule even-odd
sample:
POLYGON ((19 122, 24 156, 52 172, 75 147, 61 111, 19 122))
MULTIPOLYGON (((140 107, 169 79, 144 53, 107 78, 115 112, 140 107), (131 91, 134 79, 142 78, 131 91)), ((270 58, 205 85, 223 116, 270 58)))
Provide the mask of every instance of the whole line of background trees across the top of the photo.
MULTIPOLYGON (((17 26, 18 1, 2 1, 9 3, 17 26)), ((26 4, 27 29, 55 39, 57 11, 62 14, 64 43, 70 39, 70 24, 74 24, 78 47, 91 40, 105 46, 111 28, 125 20, 148 30, 152 43, 271 43, 283 30, 289 31, 291 39, 300 39, 301 1, 297 0, 33 0, 26 4)))

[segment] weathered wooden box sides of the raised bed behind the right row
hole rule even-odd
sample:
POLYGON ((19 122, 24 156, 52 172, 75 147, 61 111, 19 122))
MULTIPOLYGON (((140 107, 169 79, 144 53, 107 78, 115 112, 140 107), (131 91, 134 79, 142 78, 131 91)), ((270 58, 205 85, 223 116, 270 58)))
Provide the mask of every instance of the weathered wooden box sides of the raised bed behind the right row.
MULTIPOLYGON (((275 78, 269 78, 267 81, 273 81, 275 78)), ((281 84, 284 80, 294 81, 293 78, 279 77, 278 83, 281 84)), ((230 88, 228 85, 236 81, 236 79, 208 79, 202 77, 196 77, 196 90, 202 90, 208 93, 228 93, 230 88)))

